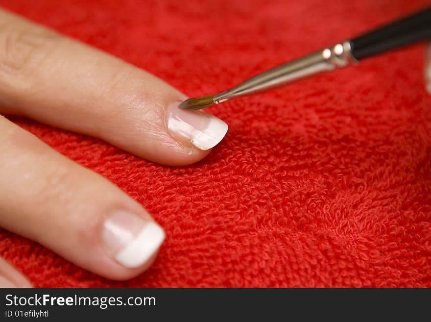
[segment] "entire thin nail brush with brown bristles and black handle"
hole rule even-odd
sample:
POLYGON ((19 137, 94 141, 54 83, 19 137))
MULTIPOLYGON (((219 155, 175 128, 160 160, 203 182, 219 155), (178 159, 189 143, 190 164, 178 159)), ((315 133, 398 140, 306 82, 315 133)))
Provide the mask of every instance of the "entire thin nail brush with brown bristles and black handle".
POLYGON ((356 64, 362 59, 389 50, 430 39, 431 7, 274 67, 216 95, 187 99, 180 107, 197 110, 229 99, 266 92, 312 75, 356 64))

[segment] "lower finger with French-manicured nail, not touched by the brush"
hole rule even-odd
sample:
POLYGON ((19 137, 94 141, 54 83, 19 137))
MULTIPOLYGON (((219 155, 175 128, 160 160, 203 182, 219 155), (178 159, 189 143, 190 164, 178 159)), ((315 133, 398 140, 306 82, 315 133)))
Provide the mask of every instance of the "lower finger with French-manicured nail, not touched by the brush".
POLYGON ((119 188, 0 117, 0 226, 112 279, 154 260, 163 229, 119 188))

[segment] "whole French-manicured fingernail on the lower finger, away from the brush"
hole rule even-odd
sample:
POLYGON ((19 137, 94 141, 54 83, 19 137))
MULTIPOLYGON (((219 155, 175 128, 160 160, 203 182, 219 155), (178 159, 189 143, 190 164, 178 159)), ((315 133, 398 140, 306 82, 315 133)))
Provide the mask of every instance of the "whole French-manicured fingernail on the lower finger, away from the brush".
POLYGON ((116 211, 103 223, 101 243, 121 265, 135 268, 157 252, 165 232, 152 221, 126 211, 116 211))

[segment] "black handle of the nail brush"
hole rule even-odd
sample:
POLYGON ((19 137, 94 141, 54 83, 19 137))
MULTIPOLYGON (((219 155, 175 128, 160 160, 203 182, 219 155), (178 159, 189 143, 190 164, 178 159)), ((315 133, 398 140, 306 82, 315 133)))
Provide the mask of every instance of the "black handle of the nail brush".
POLYGON ((384 51, 431 39, 431 7, 350 40, 352 55, 361 60, 384 51))

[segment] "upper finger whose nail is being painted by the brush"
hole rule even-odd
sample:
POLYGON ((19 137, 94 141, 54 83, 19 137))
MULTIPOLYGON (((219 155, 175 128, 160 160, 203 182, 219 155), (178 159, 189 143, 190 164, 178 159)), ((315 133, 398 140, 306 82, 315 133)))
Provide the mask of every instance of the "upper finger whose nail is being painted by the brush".
POLYGON ((227 124, 120 59, 0 11, 0 112, 103 139, 168 165, 196 162, 227 124))

